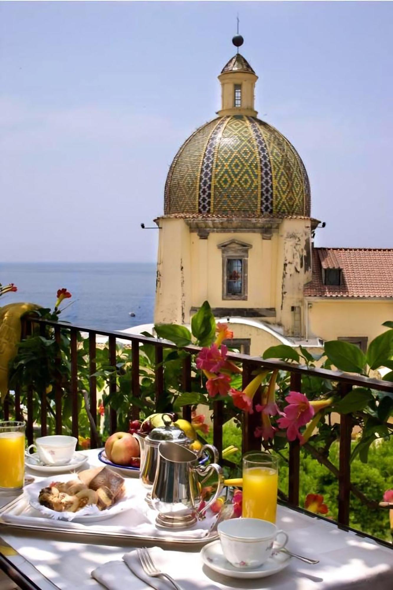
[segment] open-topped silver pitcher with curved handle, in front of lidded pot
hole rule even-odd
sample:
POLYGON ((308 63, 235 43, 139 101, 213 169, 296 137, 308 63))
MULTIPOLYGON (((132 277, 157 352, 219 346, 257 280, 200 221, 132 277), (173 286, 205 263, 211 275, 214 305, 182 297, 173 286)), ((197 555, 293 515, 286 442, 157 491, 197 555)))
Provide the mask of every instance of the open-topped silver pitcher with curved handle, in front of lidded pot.
POLYGON ((184 528, 194 525, 201 517, 201 490, 198 476, 206 479, 215 471, 217 473, 217 491, 203 511, 220 496, 224 487, 224 472, 217 463, 207 466, 199 464, 204 451, 218 456, 212 445, 204 445, 195 455, 188 448, 173 442, 161 442, 158 446, 158 466, 152 488, 152 507, 159 512, 156 524, 165 528, 184 528))

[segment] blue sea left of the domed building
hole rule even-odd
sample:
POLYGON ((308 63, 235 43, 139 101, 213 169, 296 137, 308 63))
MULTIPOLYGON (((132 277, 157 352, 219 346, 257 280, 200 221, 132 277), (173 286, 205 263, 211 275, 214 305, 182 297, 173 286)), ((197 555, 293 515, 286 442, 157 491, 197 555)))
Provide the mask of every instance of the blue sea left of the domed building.
POLYGON ((124 330, 153 322, 155 263, 0 263, 0 283, 18 287, 0 306, 28 301, 53 309, 57 290, 66 287, 72 297, 60 306, 67 307, 61 320, 80 327, 124 330))

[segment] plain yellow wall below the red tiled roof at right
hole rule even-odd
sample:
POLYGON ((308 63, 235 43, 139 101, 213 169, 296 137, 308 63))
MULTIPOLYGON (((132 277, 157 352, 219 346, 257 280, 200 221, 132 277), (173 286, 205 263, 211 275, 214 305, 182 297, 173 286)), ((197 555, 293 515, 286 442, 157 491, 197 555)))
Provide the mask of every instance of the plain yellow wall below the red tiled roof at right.
POLYGON ((309 336, 336 340, 339 336, 367 336, 368 343, 385 332, 381 324, 393 318, 393 301, 310 301, 309 336))

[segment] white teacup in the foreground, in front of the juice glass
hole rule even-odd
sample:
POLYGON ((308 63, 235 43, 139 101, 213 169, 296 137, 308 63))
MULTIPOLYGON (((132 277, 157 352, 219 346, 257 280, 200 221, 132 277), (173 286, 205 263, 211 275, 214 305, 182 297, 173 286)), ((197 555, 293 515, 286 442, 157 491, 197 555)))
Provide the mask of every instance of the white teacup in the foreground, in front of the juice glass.
POLYGON ((235 568, 258 568, 273 552, 273 543, 279 535, 283 543, 276 543, 274 550, 282 549, 288 542, 288 535, 267 520, 237 518, 224 520, 218 525, 218 534, 225 559, 235 568))

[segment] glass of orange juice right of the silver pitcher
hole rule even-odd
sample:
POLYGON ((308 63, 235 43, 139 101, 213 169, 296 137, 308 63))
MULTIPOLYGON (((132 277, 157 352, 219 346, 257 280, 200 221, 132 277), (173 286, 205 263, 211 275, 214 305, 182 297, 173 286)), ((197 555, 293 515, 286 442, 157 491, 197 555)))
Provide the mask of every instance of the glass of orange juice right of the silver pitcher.
POLYGON ((277 459, 269 453, 251 451, 243 457, 243 518, 276 522, 277 459))

